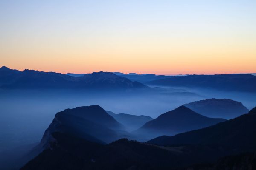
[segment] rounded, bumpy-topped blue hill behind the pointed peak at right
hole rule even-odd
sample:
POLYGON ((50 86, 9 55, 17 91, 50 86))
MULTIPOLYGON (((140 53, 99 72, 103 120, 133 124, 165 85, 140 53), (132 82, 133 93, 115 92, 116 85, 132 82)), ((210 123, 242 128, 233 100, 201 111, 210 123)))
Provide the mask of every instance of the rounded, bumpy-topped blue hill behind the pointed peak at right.
POLYGON ((231 99, 205 99, 184 106, 207 117, 224 119, 232 119, 249 111, 241 102, 231 99))

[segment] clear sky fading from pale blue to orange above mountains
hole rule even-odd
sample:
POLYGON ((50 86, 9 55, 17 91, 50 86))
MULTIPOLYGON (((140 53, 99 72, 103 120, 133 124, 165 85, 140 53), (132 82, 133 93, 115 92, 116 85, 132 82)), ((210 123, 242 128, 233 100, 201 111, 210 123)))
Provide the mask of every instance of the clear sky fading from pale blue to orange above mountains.
POLYGON ((0 0, 0 66, 256 73, 256 0, 0 0))

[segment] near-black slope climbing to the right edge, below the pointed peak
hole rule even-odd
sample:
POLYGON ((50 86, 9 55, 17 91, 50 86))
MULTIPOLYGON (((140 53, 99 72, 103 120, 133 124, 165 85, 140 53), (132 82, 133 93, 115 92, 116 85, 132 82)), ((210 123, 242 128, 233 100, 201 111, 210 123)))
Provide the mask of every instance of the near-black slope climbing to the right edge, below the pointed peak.
POLYGON ((148 141, 158 145, 218 146, 231 154, 256 151, 256 107, 235 119, 175 136, 160 136, 148 141))

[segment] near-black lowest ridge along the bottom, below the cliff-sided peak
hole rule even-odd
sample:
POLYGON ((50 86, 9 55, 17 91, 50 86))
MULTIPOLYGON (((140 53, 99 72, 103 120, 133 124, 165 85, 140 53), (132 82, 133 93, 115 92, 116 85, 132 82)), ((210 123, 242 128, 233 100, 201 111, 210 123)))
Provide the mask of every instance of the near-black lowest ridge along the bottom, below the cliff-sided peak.
POLYGON ((51 147, 21 170, 173 170, 199 160, 189 159, 186 150, 128 139, 102 145, 63 133, 52 136, 51 147))

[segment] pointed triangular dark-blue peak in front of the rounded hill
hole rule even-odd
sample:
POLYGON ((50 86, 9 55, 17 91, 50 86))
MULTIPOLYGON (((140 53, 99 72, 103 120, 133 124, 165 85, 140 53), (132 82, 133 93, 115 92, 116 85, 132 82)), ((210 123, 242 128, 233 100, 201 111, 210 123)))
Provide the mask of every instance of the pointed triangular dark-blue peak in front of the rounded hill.
POLYGON ((166 112, 151 120, 139 129, 133 131, 145 138, 157 137, 161 135, 175 135, 190 130, 200 129, 224 122, 225 119, 215 119, 202 116, 185 106, 180 106, 175 110, 166 112))

